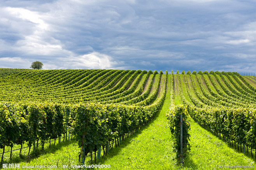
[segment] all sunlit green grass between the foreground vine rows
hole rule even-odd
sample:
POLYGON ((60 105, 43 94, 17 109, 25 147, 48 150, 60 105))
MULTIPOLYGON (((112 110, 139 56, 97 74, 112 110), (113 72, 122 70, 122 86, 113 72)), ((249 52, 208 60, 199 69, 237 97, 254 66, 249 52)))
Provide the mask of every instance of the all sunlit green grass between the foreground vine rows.
MULTIPOLYGON (((191 131, 189 131, 191 151, 185 158, 184 167, 181 167, 172 150, 170 130, 166 128, 164 112, 166 109, 168 109, 167 102, 164 103, 161 112, 153 122, 142 131, 126 138, 120 147, 112 149, 109 155, 102 157, 97 164, 109 164, 110 168, 105 169, 110 170, 216 170, 222 169, 218 168, 221 165, 253 165, 254 168, 256 167, 254 160, 243 153, 238 153, 200 127, 191 118, 191 131)), ((61 170, 63 165, 68 165, 68 167, 78 165, 79 151, 77 142, 73 139, 46 149, 45 153, 37 151, 35 153, 37 157, 31 159, 30 162, 16 159, 12 160, 12 163, 20 163, 20 167, 23 165, 57 165, 58 168, 55 169, 61 170)))

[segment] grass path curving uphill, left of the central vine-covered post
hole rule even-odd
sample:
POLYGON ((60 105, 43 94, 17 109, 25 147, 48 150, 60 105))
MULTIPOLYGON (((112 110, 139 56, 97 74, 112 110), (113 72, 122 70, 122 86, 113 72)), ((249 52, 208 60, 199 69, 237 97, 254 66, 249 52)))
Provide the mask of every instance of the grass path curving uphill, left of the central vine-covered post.
MULTIPOLYGON (((170 76, 168 76, 170 82, 170 76)), ((168 84, 169 85, 169 84, 168 84)), ((102 158, 102 164, 113 170, 176 169, 172 139, 165 114, 170 105, 170 86, 160 113, 142 131, 126 139, 102 158)))

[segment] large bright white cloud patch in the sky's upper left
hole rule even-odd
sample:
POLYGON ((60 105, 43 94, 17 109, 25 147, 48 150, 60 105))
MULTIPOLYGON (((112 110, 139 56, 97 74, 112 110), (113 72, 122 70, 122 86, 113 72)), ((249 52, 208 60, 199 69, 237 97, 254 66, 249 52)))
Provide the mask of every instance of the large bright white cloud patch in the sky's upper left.
MULTIPOLYGON (((19 34, 23 38, 16 41, 10 48, 15 52, 23 53, 27 56, 69 56, 73 55, 69 50, 63 49, 63 44, 60 40, 53 38, 50 33, 51 24, 44 21, 48 14, 40 14, 39 12, 14 7, 5 7, 4 11, 9 13, 6 16, 10 19, 13 29, 18 28, 19 34), (15 19, 15 24, 12 24, 15 19), (32 24, 32 27, 30 26, 32 24), (24 29, 19 27, 26 27, 30 30, 25 33, 24 29)), ((2 19, 2 21, 5 21, 2 19)), ((4 50, 0 48, 0 50, 4 50)))

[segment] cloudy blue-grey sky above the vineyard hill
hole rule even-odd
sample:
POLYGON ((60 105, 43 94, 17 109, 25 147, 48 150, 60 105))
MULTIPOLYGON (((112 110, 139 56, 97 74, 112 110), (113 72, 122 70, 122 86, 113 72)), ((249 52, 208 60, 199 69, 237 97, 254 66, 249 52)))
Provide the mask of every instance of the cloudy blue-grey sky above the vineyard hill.
POLYGON ((255 0, 0 0, 0 68, 256 72, 255 0))

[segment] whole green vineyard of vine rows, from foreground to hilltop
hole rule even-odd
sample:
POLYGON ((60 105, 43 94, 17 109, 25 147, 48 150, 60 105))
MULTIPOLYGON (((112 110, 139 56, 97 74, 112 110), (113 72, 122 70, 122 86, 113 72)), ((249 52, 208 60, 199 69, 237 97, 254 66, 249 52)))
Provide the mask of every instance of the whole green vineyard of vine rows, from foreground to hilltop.
MULTIPOLYGON (((212 133, 216 140, 224 141, 226 147, 231 148, 230 155, 242 153, 240 165, 256 167, 254 76, 218 71, 183 71, 182 74, 166 71, 164 74, 146 70, 0 69, 0 92, 0 156, 3 163, 13 162, 13 156, 30 155, 36 148, 51 148, 61 137, 68 142, 67 136, 71 135, 79 148, 76 164, 92 163, 93 153, 100 153, 101 149, 102 156, 106 157, 102 159, 106 159, 104 164, 107 164, 110 149, 127 148, 124 146, 127 140, 135 141, 133 137, 140 133, 145 133, 145 140, 150 141, 156 138, 151 136, 159 133, 163 137, 168 134, 168 137, 159 137, 156 146, 167 148, 165 144, 168 144, 171 148, 168 154, 172 155, 163 158, 170 163, 163 169, 182 168, 177 164, 181 159, 181 143, 185 168, 203 169, 189 161, 195 149, 191 133, 198 126, 212 133), (184 120, 182 141, 180 115, 184 120), (149 131, 151 127, 152 131, 156 128, 159 131, 153 134, 149 131), (13 149, 18 150, 17 154, 12 153, 13 149)), ((148 153, 149 150, 152 148, 148 153)), ((132 151, 126 153, 129 155, 132 151)), ((130 165, 136 162, 132 156, 129 165, 121 164, 118 168, 140 169, 138 165, 130 165)), ((113 160, 115 157, 122 159, 111 156, 113 160)), ((153 162, 153 156, 149 157, 153 162)), ((147 167, 144 160, 141 162, 144 169, 156 168, 147 167)), ((215 162, 212 166, 226 164, 215 162)), ((156 160, 155 165, 162 163, 156 160)))

